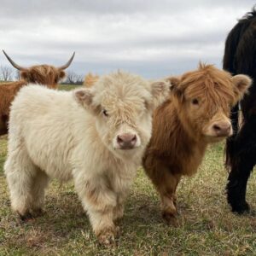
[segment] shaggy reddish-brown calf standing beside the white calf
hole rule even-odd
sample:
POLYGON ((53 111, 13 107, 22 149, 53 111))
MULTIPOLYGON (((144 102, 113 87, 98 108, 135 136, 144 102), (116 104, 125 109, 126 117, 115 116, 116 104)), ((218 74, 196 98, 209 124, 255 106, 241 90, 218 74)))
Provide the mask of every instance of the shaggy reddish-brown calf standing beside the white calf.
POLYGON ((230 108, 252 83, 212 65, 168 79, 172 93, 154 112, 153 133, 143 167, 160 194, 161 212, 176 224, 176 189, 183 175, 194 174, 209 143, 232 134, 230 108))

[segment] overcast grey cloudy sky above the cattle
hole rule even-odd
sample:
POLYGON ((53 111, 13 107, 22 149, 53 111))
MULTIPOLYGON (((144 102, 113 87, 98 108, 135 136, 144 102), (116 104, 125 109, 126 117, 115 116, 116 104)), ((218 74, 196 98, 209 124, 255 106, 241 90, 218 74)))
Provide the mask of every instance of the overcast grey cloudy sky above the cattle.
MULTIPOLYGON (((0 47, 21 66, 76 73, 117 68, 146 78, 222 66, 224 40, 251 0, 1 0, 0 47)), ((2 52, 0 65, 7 66, 2 52)))

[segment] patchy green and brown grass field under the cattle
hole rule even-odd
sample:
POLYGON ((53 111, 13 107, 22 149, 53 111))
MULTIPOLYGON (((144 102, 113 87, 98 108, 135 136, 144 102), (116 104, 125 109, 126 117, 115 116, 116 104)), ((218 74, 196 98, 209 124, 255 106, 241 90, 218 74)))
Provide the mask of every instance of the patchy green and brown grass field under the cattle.
MULTIPOLYGON (((163 223, 158 195, 139 169, 119 222, 121 234, 112 248, 97 244, 72 182, 50 183, 44 216, 20 223, 11 212, 3 176, 6 145, 7 138, 0 137, 1 256, 256 255, 256 218, 231 213, 225 200, 224 143, 208 148, 199 172, 179 184, 177 228, 163 223)), ((250 178, 247 189, 247 201, 254 209, 255 179, 250 178)))

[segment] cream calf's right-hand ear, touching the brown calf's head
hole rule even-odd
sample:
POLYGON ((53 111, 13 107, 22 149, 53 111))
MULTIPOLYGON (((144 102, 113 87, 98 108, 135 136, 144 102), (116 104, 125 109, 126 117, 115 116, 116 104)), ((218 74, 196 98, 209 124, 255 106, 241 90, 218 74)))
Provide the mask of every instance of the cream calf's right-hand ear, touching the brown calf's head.
POLYGON ((166 81, 155 81, 151 84, 151 93, 153 96, 153 108, 160 106, 169 96, 170 84, 166 81))

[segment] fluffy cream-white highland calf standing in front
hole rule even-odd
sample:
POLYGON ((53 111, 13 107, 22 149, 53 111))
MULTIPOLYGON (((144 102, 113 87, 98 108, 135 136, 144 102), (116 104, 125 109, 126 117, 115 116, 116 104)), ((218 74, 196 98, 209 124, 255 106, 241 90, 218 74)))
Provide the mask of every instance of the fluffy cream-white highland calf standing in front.
POLYGON ((99 241, 113 242, 113 221, 123 215, 151 136, 152 113, 169 85, 117 72, 90 89, 56 91, 36 84, 21 89, 11 107, 4 166, 20 218, 42 211, 49 178, 73 178, 99 241))

